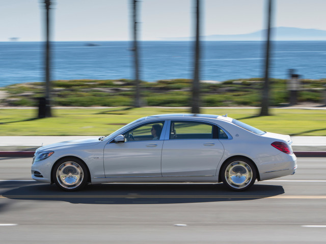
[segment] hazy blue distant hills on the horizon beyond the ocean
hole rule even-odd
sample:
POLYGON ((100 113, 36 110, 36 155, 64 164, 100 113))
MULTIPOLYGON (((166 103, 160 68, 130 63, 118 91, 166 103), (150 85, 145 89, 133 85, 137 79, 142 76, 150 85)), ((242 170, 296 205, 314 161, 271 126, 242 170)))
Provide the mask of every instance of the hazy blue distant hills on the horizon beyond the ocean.
MULTIPOLYGON (((326 41, 326 31, 321 29, 303 29, 294 27, 273 27, 271 38, 275 41, 326 41)), ((266 29, 241 35, 202 36, 203 41, 262 41, 266 38, 266 29)), ((164 41, 191 41, 194 38, 165 38, 164 41)))

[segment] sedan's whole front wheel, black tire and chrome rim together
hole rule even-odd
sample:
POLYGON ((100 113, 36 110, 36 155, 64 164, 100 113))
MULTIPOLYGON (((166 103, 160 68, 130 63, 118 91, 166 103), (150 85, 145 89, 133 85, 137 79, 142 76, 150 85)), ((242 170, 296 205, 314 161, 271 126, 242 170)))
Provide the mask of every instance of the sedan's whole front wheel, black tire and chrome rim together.
POLYGON ((88 171, 82 160, 65 158, 59 160, 52 171, 52 179, 64 191, 78 191, 87 184, 88 171))

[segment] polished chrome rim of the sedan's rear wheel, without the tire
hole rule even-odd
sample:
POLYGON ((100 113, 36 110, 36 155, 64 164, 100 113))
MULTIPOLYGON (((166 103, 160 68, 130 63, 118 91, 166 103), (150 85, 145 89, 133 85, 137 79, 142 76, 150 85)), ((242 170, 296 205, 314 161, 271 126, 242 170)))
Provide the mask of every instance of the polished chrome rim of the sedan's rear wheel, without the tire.
POLYGON ((253 172, 249 164, 243 161, 234 161, 225 170, 227 184, 235 189, 242 189, 250 185, 253 172))

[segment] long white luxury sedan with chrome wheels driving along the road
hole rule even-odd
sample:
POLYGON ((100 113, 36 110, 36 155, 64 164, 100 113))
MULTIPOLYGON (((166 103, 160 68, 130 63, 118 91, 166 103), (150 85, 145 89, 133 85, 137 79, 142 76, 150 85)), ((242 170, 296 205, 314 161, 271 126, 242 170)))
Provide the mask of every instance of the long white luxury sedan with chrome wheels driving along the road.
POLYGON ((290 136, 227 115, 160 114, 109 136, 40 147, 32 178, 66 191, 104 182, 222 182, 234 191, 294 174, 290 136))

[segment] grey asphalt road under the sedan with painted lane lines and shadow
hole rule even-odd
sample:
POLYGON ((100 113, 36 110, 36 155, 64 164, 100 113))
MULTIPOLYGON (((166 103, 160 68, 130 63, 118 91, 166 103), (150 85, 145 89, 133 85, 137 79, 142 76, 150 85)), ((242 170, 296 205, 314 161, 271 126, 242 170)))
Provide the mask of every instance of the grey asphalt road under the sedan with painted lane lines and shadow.
POLYGON ((295 175, 222 184, 103 184, 67 193, 0 158, 1 243, 326 243, 326 158, 295 175), (30 180, 30 181, 29 181, 30 180))

